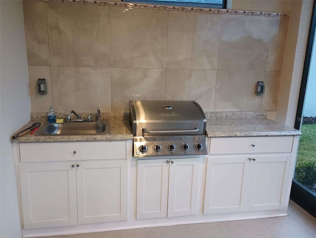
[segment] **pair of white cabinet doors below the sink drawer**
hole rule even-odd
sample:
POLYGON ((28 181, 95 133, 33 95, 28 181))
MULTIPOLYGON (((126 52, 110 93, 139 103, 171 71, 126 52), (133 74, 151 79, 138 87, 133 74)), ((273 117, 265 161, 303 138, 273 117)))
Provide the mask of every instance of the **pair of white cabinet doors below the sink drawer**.
POLYGON ((20 163, 19 171, 26 229, 127 219, 126 159, 20 163))

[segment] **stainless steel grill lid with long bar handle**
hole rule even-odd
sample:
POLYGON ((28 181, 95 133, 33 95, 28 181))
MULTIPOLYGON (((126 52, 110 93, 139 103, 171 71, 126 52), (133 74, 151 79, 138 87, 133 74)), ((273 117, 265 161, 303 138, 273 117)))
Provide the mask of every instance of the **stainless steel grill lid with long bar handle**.
POLYGON ((205 134, 206 118, 195 101, 129 101, 134 136, 205 134))

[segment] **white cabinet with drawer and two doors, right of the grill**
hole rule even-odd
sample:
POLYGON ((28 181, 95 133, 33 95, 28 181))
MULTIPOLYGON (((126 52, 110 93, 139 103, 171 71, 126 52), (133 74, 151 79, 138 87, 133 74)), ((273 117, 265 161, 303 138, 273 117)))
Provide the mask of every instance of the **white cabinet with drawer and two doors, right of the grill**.
POLYGON ((212 138, 204 214, 286 208, 292 144, 291 136, 212 138))

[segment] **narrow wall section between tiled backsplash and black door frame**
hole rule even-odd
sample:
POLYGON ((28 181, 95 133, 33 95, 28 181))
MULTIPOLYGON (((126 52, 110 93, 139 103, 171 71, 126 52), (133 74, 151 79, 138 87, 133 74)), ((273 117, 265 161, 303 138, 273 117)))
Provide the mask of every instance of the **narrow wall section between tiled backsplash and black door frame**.
POLYGON ((287 33, 276 121, 294 127, 301 87, 306 46, 313 10, 311 0, 292 0, 287 33))

